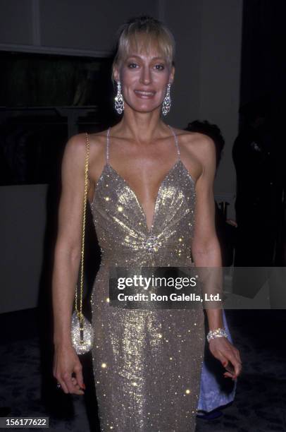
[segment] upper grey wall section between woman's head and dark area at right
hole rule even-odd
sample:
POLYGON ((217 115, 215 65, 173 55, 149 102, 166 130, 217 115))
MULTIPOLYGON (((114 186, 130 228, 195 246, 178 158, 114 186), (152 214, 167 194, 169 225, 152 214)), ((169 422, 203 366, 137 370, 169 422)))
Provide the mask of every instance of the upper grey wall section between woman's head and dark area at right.
POLYGON ((166 0, 165 16, 177 43, 170 121, 182 128, 195 119, 218 125, 225 151, 215 193, 230 202, 235 217, 231 150, 238 132, 242 0, 166 0))

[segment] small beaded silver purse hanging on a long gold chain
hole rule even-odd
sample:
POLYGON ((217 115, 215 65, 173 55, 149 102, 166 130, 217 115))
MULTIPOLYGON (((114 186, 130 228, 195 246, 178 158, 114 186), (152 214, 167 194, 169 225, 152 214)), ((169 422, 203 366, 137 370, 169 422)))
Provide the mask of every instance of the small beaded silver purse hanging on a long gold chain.
POLYGON ((82 253, 80 261, 80 308, 77 308, 77 286, 75 287, 75 311, 71 318, 70 335, 73 347, 77 354, 85 354, 92 349, 94 341, 94 329, 89 320, 82 313, 82 292, 83 292, 83 261, 85 253, 85 215, 87 208, 87 183, 88 183, 88 160, 89 160, 89 137, 87 135, 87 155, 85 159, 85 197, 83 203, 82 218, 82 253))

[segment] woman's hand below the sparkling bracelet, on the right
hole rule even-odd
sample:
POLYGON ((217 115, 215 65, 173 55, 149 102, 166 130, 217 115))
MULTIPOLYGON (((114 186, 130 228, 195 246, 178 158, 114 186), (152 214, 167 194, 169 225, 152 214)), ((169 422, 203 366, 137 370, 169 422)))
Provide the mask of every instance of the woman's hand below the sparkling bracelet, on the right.
POLYGON ((209 349, 216 359, 220 361, 223 367, 228 367, 228 364, 234 368, 233 372, 226 371, 223 375, 235 380, 242 371, 242 361, 240 352, 235 348, 226 337, 215 337, 209 341, 209 349))

